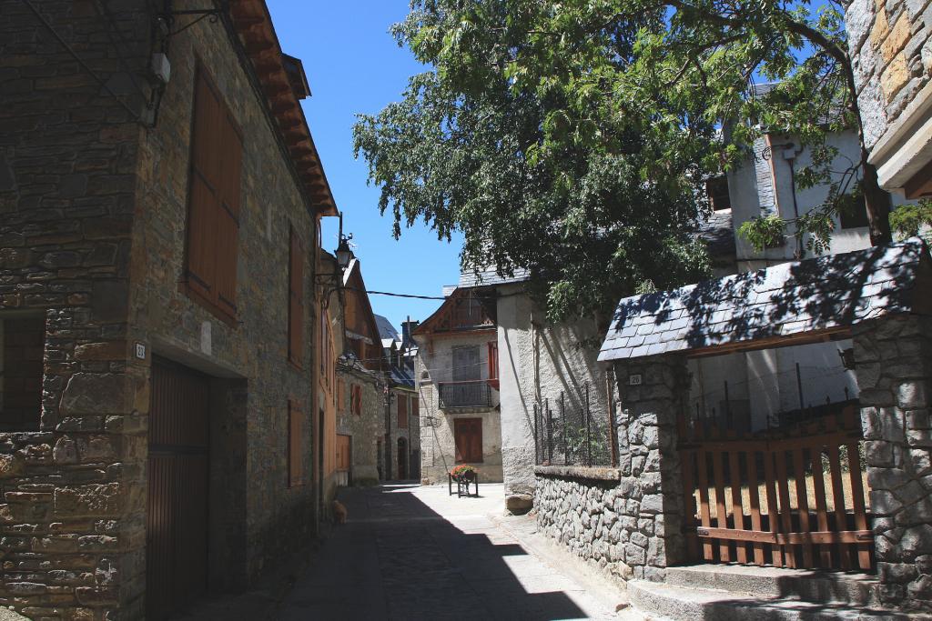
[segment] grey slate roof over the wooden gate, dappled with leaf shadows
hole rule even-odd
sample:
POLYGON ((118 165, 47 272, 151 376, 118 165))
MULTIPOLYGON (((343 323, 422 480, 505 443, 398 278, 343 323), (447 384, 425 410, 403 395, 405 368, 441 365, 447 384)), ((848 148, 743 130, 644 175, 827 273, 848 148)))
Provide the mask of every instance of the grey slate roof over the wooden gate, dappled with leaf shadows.
POLYGON ((774 265, 624 298, 600 361, 850 326, 911 310, 932 269, 922 240, 774 265))

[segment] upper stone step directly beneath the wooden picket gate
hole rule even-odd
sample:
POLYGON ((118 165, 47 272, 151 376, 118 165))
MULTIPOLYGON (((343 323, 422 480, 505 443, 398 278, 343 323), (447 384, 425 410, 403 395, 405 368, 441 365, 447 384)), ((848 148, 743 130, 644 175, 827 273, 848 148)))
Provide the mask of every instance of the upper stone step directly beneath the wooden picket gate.
POLYGON ((697 564, 668 568, 666 584, 814 603, 850 603, 867 607, 880 605, 879 583, 876 577, 868 574, 697 564))

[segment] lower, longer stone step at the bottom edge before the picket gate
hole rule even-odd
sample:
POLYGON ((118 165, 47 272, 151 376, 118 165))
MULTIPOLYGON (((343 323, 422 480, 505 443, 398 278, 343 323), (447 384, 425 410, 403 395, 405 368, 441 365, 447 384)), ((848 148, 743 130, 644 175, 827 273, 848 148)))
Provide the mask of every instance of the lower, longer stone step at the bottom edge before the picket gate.
POLYGON ((660 582, 632 580, 628 599, 644 618, 669 621, 906 621, 908 614, 857 607, 846 603, 815 603, 758 597, 749 593, 711 588, 678 587, 660 582))

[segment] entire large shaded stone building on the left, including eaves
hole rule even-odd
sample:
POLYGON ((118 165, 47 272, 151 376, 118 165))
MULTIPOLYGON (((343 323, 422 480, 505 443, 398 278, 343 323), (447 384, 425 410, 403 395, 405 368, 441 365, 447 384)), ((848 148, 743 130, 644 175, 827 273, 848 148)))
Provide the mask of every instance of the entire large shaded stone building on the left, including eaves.
POLYGON ((163 618, 314 533, 336 208, 301 62, 218 6, 0 6, 0 603, 35 618, 163 618))

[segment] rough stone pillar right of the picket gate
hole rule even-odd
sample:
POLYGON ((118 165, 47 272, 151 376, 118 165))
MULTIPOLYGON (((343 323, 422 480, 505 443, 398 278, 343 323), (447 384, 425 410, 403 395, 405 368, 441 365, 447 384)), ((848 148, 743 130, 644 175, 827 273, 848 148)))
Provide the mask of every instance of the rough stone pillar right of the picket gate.
POLYGON ((855 328, 881 598, 932 610, 932 319, 855 328))

